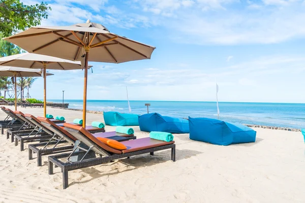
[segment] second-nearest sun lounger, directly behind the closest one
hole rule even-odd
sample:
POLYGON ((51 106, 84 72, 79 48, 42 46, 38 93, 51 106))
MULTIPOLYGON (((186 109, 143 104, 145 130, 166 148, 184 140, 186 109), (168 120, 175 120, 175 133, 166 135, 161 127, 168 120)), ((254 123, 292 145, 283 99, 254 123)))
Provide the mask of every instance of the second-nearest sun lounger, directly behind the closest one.
MULTIPOLYGON (((46 143, 37 143, 37 144, 28 145, 28 159, 30 160, 33 159, 33 153, 36 153, 37 165, 41 166, 42 165, 41 158, 44 155, 72 151, 74 147, 73 145, 77 140, 74 136, 72 136, 72 134, 67 132, 62 127, 59 127, 48 118, 37 117, 37 119, 41 122, 43 126, 45 126, 47 129, 52 131, 54 136, 46 143), (64 143, 66 143, 66 145, 58 146, 59 144, 64 144, 64 143), (71 145, 69 145, 69 143, 71 145)), ((117 132, 99 132, 99 133, 95 133, 94 136, 109 138, 116 140, 118 142, 136 139, 136 137, 133 134, 123 134, 117 132)))

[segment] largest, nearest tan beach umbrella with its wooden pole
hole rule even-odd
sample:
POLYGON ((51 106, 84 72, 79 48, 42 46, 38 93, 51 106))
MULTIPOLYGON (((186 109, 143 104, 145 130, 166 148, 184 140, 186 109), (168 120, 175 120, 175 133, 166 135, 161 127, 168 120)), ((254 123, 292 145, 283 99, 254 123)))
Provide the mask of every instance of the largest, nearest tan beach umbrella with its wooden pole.
POLYGON ((69 60, 84 59, 83 126, 86 123, 88 61, 121 63, 149 59, 155 49, 111 33, 103 25, 89 20, 71 26, 31 27, 5 40, 31 53, 69 60))

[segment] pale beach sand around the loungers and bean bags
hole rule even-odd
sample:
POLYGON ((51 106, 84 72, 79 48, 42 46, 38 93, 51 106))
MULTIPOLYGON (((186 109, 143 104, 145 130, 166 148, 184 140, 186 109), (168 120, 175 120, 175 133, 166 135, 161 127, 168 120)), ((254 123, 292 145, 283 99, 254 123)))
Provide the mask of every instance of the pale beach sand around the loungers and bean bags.
MULTIPOLYGON (((43 115, 40 108, 18 110, 43 115)), ((47 112, 68 122, 82 117, 78 111, 47 112)), ((1 112, 0 120, 4 117, 1 112)), ((103 115, 87 114, 87 124, 95 120, 103 121, 103 115)), ((148 136, 134 129, 137 138, 148 136)), ((255 143, 230 146, 174 134, 176 162, 165 150, 71 171, 66 190, 60 169, 48 175, 47 156, 38 167, 36 158, 28 160, 27 145, 20 152, 0 135, 0 202, 305 202, 302 134, 255 130, 255 143)))

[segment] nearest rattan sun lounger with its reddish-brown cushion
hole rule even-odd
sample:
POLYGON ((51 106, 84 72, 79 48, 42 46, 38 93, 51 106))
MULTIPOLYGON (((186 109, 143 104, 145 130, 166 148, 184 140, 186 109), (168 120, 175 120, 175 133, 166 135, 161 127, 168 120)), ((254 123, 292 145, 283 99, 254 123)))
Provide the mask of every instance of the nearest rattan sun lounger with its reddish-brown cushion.
POLYGON ((153 155, 154 152, 165 149, 171 149, 171 160, 175 161, 174 141, 163 142, 150 138, 142 138, 142 139, 121 142, 125 146, 127 146, 127 149, 116 150, 99 141, 97 138, 93 136, 93 134, 91 134, 81 126, 65 124, 65 129, 68 132, 70 132, 80 142, 77 142, 75 144, 75 148, 71 153, 64 153, 64 154, 48 157, 49 175, 53 174, 53 164, 55 164, 55 166, 60 167, 63 172, 64 189, 66 189, 69 186, 68 172, 72 170, 77 170, 79 168, 103 164, 115 159, 128 158, 130 156, 135 156, 145 153, 150 153, 151 155, 153 155), (80 147, 80 144, 82 143, 88 146, 88 149, 84 149, 83 147, 80 147), (77 149, 80 149, 81 151, 75 152, 77 149), (88 157, 88 155, 90 153, 92 154, 92 152, 99 154, 100 157, 86 159, 86 156, 88 157), (75 155, 82 156, 82 158, 79 161, 73 162, 70 160, 70 158, 75 155), (64 162, 63 160, 60 160, 63 158, 67 159, 67 161, 64 162))

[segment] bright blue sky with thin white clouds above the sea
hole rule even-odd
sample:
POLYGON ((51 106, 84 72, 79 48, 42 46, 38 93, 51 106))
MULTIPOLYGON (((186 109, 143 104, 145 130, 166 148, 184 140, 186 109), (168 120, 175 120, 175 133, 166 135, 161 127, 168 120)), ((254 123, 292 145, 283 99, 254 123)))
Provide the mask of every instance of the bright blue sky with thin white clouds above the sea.
MULTIPOLYGON (((25 0, 25 4, 38 2, 25 0)), ((298 0, 55 0, 42 25, 101 23, 157 47, 150 60, 96 63, 88 99, 305 103, 305 3, 298 0)), ((50 71, 47 98, 82 99, 82 71, 50 71)), ((43 98, 43 80, 30 90, 43 98)))

